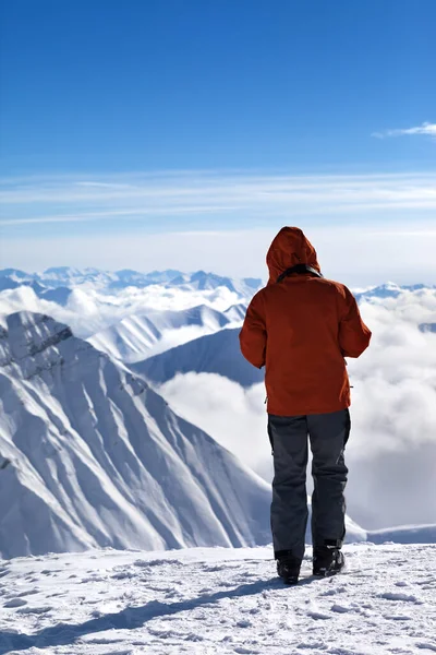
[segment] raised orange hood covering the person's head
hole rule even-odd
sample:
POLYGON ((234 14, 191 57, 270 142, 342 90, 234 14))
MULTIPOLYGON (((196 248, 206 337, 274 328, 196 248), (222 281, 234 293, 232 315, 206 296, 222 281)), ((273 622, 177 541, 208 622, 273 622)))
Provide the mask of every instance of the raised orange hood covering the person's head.
POLYGON ((296 264, 307 264, 320 273, 316 250, 299 227, 281 228, 269 247, 266 264, 269 270, 268 284, 276 283, 284 271, 296 264))

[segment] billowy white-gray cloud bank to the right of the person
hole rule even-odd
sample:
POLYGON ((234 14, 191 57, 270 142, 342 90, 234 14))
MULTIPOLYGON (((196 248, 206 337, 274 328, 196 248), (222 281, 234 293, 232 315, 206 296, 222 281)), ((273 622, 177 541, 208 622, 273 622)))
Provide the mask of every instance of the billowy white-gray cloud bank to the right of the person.
POLYGON ((350 502, 374 527, 429 523, 436 516, 436 293, 407 294, 362 312, 374 341, 350 361, 354 430, 349 448, 350 502))

